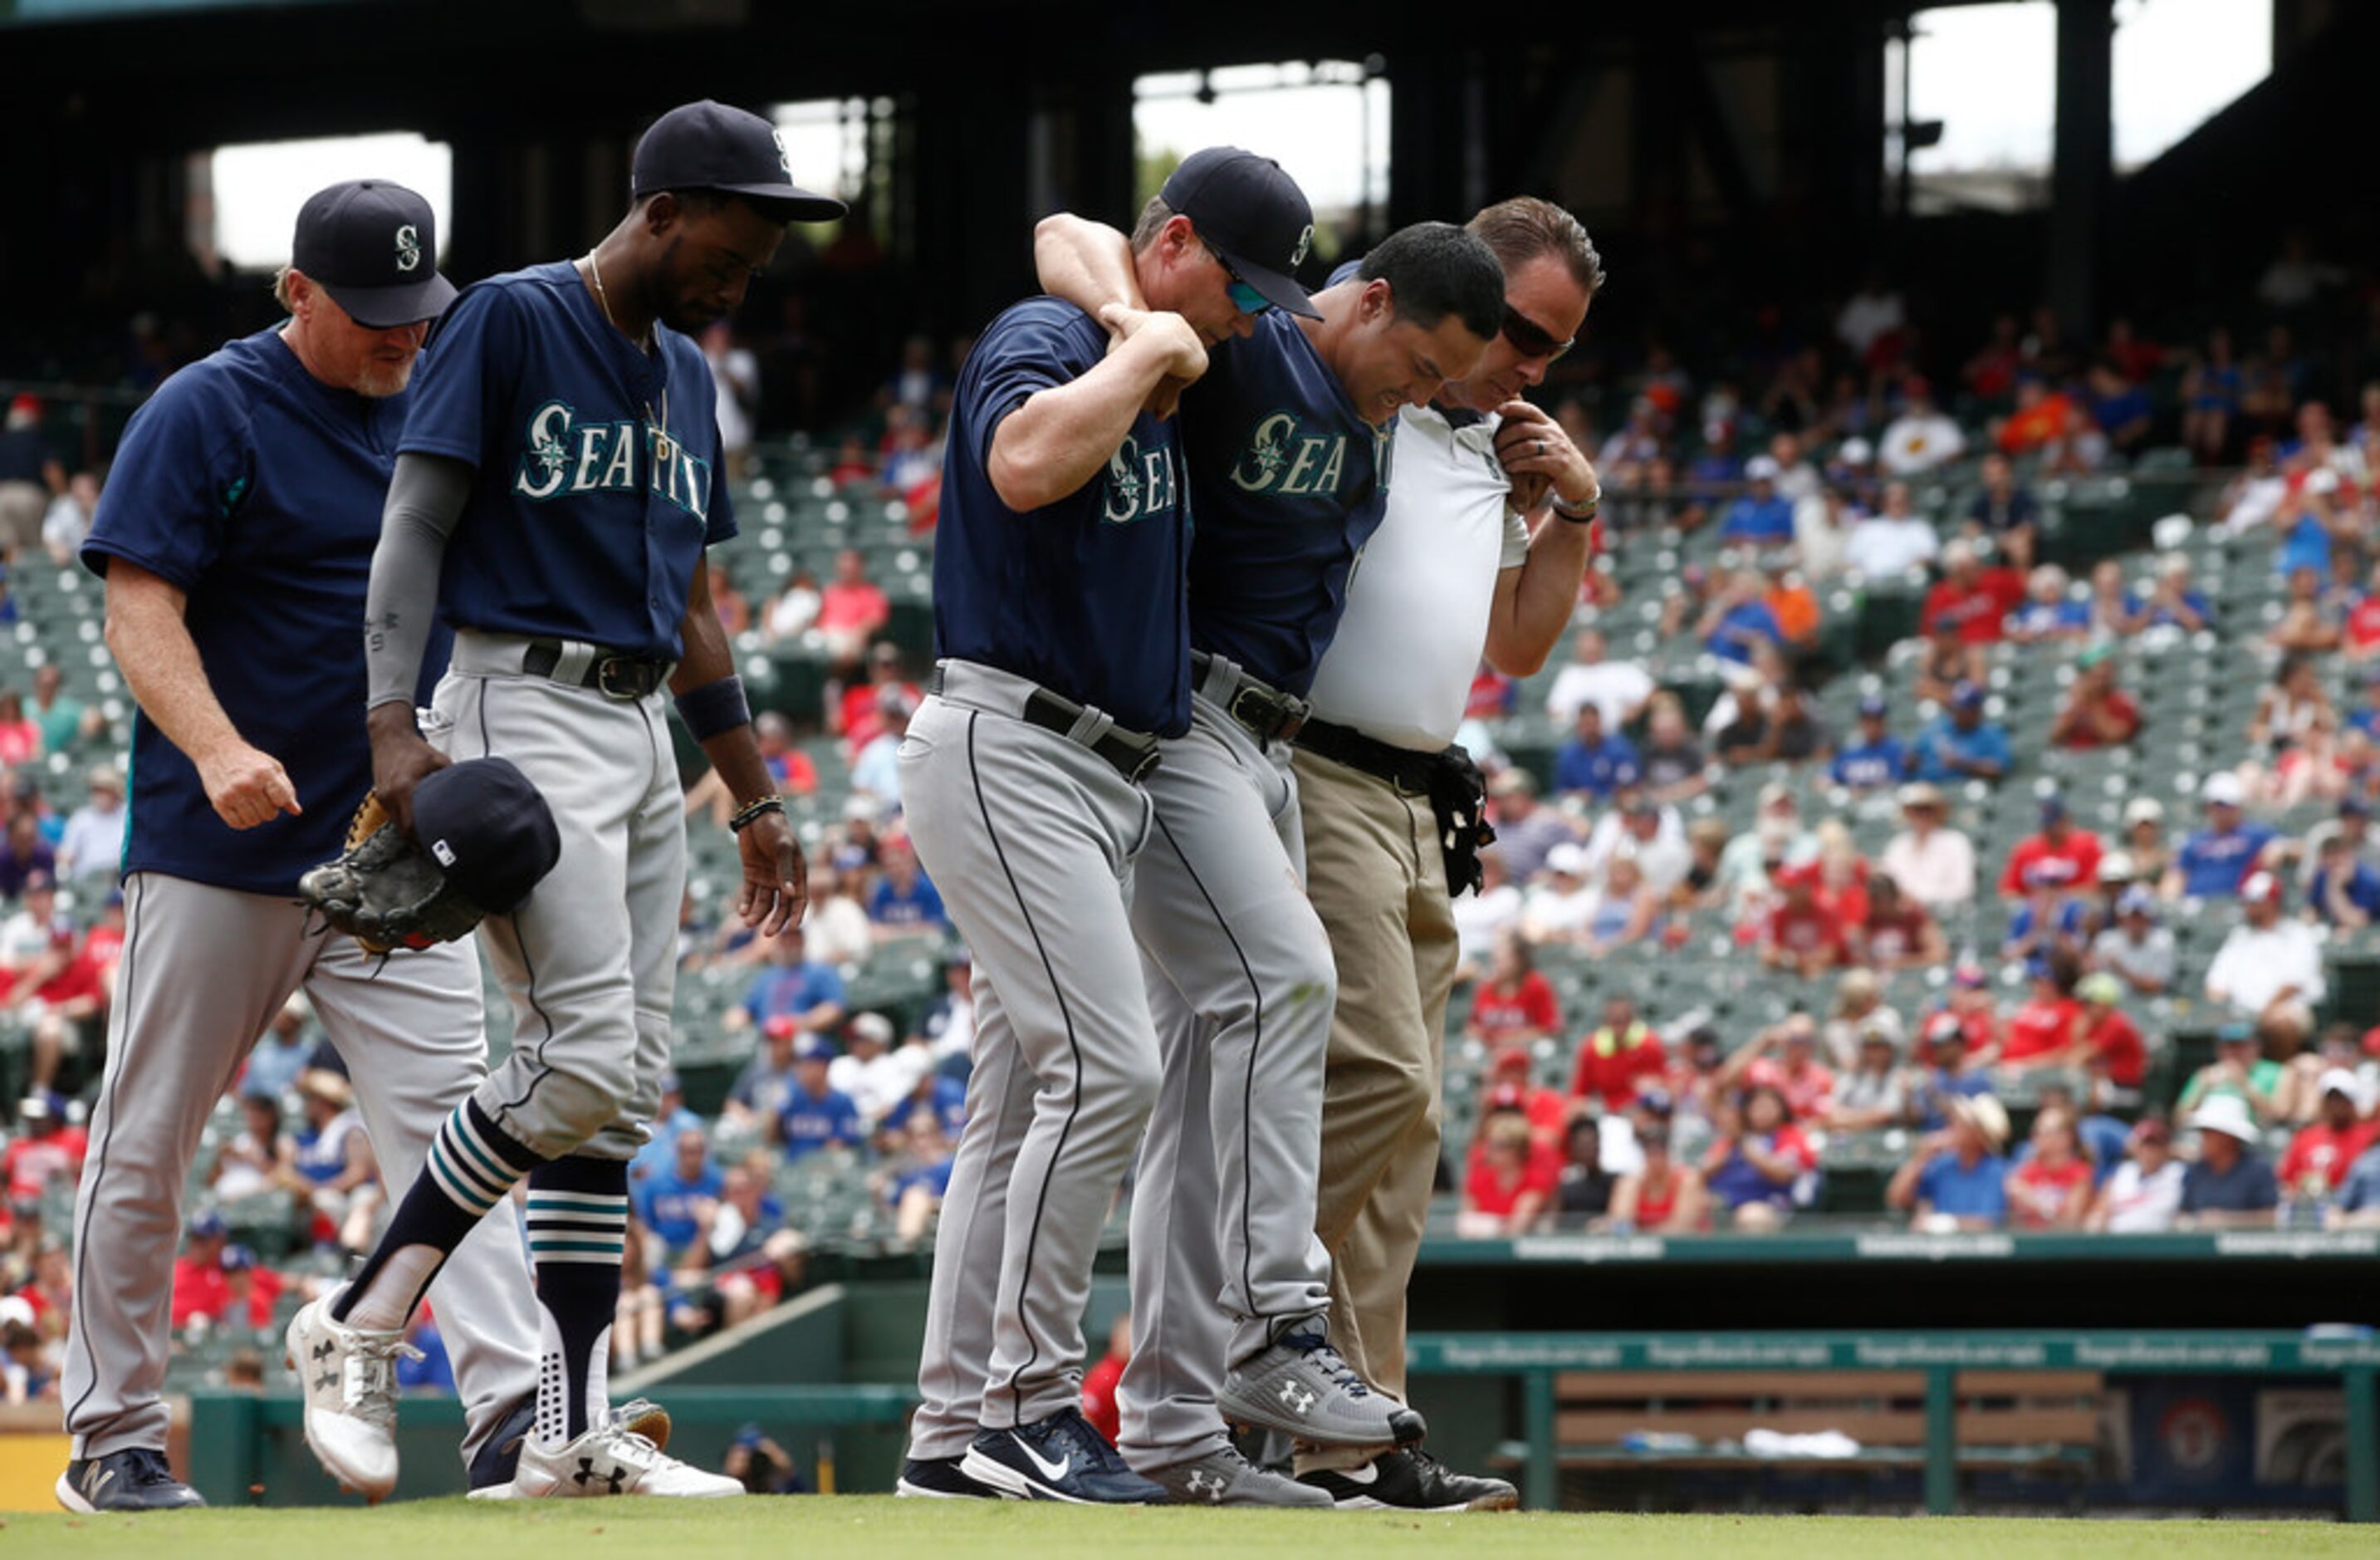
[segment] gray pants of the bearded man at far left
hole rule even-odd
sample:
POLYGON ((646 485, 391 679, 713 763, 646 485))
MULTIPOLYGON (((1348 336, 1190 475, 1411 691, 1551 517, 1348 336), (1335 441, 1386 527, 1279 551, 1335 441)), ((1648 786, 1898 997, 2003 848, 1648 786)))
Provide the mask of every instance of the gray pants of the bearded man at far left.
MULTIPOLYGON (((412 1184, 438 1124, 488 1077, 469 943, 383 965, 345 936, 307 936, 305 910, 286 898, 136 872, 124 884, 107 1072, 74 1208, 62 1398, 76 1458, 164 1448, 159 1391, 183 1179, 248 1048, 300 988, 347 1062, 393 1188, 412 1184)), ((431 1305, 469 1412, 469 1460, 536 1391, 538 1322, 509 1210, 455 1250, 431 1305)))

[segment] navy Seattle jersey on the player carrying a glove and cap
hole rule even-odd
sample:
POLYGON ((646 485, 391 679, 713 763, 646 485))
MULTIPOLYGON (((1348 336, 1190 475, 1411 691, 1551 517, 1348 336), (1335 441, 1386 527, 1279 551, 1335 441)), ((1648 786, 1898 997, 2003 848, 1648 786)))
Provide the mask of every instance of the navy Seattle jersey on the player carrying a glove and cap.
POLYGON ((405 455, 476 467, 438 610, 457 629, 678 660, 702 548, 735 536, 709 364, 612 329, 569 260, 476 281, 421 360, 405 455))

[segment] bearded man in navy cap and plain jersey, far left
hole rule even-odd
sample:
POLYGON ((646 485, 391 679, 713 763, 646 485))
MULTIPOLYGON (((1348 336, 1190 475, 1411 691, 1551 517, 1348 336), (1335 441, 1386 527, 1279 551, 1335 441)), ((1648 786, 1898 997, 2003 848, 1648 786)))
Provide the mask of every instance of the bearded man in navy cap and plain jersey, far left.
MULTIPOLYGON (((338 855, 371 784, 355 619, 414 355, 455 295, 436 252, 431 207, 402 186, 307 200, 274 283, 288 322, 140 407, 83 543, 140 710, 124 962, 74 1215, 74 1462, 57 1481, 71 1510, 200 1505, 167 1472, 159 1400, 178 1205, 207 1112, 290 993, 307 993, 347 1060, 397 1184, 488 1074, 466 946, 381 967, 309 929, 295 896, 300 872, 338 855)), ((438 1281, 476 1481, 509 1477, 500 1427, 533 1389, 519 1274, 521 1238, 493 1222, 438 1281)), ((359 1369, 393 1362, 383 1348, 359 1369)))

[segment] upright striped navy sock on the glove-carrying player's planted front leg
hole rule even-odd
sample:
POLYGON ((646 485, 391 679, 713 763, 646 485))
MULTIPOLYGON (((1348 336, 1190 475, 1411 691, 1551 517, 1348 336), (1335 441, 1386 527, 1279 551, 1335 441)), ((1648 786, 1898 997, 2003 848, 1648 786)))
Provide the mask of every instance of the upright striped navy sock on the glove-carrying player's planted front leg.
POLYGON ((528 1174, 528 1260, 538 1269, 538 1446, 569 1446, 612 1408, 607 1365, 626 1246, 626 1160, 574 1155, 528 1174))

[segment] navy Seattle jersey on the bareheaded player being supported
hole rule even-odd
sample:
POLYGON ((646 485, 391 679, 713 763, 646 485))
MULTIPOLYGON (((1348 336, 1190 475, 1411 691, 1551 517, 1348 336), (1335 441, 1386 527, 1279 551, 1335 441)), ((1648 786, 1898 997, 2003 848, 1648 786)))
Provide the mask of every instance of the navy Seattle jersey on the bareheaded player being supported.
POLYGON ((1347 572, 1388 514, 1395 424, 1357 417, 1285 310, 1209 350, 1180 424, 1197 514, 1190 643, 1304 693, 1347 607, 1347 572))

